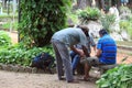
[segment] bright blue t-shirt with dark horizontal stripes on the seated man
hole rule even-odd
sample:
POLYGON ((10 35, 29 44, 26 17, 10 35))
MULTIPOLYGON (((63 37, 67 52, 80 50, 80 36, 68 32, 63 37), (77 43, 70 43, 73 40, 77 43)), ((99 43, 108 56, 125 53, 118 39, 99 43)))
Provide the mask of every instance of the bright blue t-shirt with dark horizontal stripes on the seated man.
POLYGON ((117 44, 114 40, 106 34, 100 37, 97 48, 101 50, 102 53, 99 56, 99 62, 102 64, 116 64, 117 63, 117 44))

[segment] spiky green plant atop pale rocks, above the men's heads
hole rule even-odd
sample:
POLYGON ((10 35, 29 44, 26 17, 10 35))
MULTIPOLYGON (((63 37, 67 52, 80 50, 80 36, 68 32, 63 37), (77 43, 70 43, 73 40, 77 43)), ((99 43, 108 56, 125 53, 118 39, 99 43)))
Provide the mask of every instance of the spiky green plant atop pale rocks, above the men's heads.
POLYGON ((97 8, 88 7, 85 10, 78 10, 77 14, 81 23, 87 23, 89 20, 98 20, 100 16, 100 11, 97 8))

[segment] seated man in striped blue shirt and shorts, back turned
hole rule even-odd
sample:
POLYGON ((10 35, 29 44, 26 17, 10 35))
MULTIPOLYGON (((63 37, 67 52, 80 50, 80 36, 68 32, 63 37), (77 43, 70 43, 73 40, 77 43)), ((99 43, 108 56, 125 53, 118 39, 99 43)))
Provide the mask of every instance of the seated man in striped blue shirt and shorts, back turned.
MULTIPOLYGON (((88 57, 81 63, 88 63, 91 66, 111 65, 117 63, 117 44, 106 30, 99 31, 100 38, 97 44, 97 53, 95 57, 88 57)), ((90 69, 89 69, 90 70, 90 69)), ((85 79, 87 80, 89 74, 85 79)))

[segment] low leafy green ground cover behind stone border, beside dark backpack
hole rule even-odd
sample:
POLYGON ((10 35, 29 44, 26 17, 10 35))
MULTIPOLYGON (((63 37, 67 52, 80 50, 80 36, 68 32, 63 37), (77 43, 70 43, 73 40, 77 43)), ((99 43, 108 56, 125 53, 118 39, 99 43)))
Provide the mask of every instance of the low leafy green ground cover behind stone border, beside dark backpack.
POLYGON ((54 56, 51 46, 33 47, 30 50, 24 48, 21 45, 2 47, 0 50, 0 63, 30 66, 32 59, 42 52, 50 53, 54 56))

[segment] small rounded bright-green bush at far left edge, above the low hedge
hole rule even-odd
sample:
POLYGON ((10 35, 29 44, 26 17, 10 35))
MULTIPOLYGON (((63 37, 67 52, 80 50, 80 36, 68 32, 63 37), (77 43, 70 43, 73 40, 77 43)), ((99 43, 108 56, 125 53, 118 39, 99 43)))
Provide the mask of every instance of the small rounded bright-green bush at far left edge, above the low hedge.
POLYGON ((4 31, 0 31, 0 46, 11 45, 11 37, 4 31))

